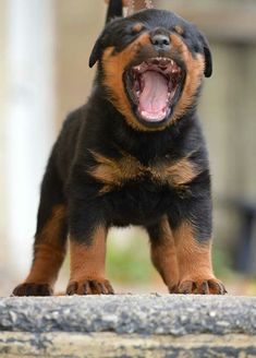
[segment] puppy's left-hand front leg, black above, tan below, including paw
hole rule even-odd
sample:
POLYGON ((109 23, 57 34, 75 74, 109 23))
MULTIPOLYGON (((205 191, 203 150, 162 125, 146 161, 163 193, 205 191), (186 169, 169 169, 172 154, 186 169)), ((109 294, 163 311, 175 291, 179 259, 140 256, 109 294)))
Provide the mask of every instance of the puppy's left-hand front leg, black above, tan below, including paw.
POLYGON ((70 212, 71 275, 68 295, 112 295, 105 278, 107 227, 100 208, 73 202, 70 212))

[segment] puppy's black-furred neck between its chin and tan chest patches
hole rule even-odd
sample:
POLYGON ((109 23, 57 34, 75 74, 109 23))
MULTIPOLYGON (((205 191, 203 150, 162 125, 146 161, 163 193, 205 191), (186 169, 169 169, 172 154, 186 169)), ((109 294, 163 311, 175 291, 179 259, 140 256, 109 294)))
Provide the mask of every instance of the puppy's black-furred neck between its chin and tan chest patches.
POLYGON ((94 116, 94 124, 90 123, 99 131, 98 138, 102 138, 101 134, 105 133, 105 140, 109 145, 134 155, 143 163, 181 151, 181 142, 183 139, 185 141, 194 123, 197 122, 196 110, 192 108, 179 121, 162 131, 135 130, 111 104, 101 87, 94 88, 88 105, 88 110, 92 109, 94 112, 96 108, 103 108, 97 112, 97 117, 94 116))

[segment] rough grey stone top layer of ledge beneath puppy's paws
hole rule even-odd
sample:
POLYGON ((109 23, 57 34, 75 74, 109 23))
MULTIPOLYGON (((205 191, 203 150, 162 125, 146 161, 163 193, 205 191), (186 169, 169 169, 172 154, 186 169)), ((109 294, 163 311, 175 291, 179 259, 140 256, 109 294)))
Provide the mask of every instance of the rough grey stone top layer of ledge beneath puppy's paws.
POLYGON ((3 298, 0 331, 256 334, 256 298, 181 295, 3 298))

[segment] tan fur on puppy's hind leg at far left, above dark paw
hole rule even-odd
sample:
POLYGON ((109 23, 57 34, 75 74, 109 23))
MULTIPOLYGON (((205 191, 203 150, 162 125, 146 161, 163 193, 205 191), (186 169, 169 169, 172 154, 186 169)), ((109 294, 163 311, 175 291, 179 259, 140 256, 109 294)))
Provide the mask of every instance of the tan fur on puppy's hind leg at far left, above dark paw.
POLYGON ((65 247, 61 242, 65 211, 64 205, 52 208, 51 218, 37 237, 34 261, 25 283, 54 284, 65 255, 65 247))

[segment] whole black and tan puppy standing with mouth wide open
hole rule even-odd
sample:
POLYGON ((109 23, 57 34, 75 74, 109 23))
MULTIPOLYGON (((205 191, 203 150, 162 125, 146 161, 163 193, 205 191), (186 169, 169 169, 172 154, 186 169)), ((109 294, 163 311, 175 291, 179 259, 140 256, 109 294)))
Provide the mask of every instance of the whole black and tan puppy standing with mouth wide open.
POLYGON ((211 266, 208 156, 196 107, 211 55, 198 29, 161 10, 110 22, 89 65, 88 103, 72 112, 41 186, 31 272, 13 294, 51 295, 69 236, 66 294, 113 294, 110 227, 139 225, 170 293, 224 294, 211 266))

